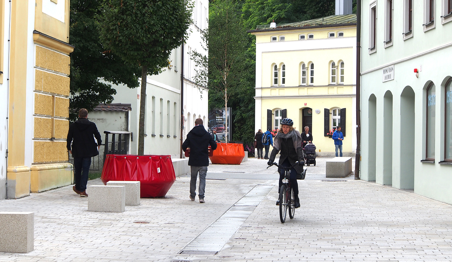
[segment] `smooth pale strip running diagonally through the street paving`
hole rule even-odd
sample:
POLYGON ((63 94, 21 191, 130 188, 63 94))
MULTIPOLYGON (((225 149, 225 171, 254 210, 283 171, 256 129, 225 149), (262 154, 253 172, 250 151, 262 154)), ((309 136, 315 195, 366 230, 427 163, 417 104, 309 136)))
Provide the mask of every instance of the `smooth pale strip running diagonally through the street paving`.
POLYGON ((255 185, 223 215, 188 243, 179 254, 221 251, 273 187, 274 185, 255 185))

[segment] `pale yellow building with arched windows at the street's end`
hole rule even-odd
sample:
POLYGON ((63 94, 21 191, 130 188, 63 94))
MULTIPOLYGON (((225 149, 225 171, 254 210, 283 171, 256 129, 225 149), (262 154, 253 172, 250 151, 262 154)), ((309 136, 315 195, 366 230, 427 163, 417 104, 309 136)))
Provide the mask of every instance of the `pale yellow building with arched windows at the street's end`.
POLYGON ((333 156, 330 130, 341 126, 344 156, 356 151, 356 15, 258 26, 255 129, 282 118, 309 126, 322 156, 333 156))

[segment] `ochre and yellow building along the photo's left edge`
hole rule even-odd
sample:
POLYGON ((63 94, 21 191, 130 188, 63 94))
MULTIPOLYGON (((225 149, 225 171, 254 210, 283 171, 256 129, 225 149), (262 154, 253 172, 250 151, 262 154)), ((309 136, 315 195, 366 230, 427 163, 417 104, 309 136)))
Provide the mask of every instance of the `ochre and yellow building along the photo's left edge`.
POLYGON ((69 0, 2 1, 0 14, 0 199, 21 198, 72 184, 69 0))

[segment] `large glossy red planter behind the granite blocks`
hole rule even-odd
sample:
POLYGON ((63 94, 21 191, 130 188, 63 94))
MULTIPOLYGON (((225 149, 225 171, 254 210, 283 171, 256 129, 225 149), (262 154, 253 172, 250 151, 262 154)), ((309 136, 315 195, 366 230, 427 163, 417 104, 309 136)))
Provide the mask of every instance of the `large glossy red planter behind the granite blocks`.
POLYGON ((141 198, 164 197, 176 181, 171 156, 107 155, 102 182, 140 181, 141 198))

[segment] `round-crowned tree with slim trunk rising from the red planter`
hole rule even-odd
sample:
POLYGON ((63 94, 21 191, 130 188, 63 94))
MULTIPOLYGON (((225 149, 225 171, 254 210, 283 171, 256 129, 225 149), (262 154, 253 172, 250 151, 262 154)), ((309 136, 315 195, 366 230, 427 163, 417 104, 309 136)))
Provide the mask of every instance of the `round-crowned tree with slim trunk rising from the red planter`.
POLYGON ((138 154, 143 155, 146 77, 167 67, 170 52, 187 39, 192 5, 186 0, 106 0, 103 8, 103 43, 141 67, 138 154))

